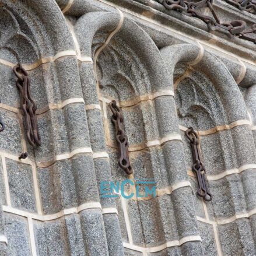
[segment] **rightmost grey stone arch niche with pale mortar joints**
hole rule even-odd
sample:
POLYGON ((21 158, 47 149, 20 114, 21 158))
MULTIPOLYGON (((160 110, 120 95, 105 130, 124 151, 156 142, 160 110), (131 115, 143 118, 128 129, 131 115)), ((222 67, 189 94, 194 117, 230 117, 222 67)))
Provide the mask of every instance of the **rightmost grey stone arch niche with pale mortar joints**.
MULTIPOLYGON (((225 239, 233 240, 233 233, 229 234, 228 230, 242 232, 240 223, 251 230, 250 217, 255 214, 252 202, 255 199, 248 181, 255 183, 256 151, 251 132, 253 124, 243 95, 223 62, 201 45, 174 45, 164 47, 160 52, 171 77, 171 87, 176 89, 181 134, 190 125, 198 130, 208 170, 213 200, 205 209, 201 200, 195 199, 197 216, 215 218, 211 229, 215 232, 216 250, 222 247, 230 255, 237 252, 253 254, 254 247, 246 246, 242 239, 232 248, 225 245, 225 239), (234 204, 237 201, 239 206, 234 204)), ((253 95, 254 87, 251 87, 246 101, 252 113, 253 95)), ((191 170, 191 150, 185 136, 183 142, 187 169, 191 170)), ((191 171, 188 173, 193 176, 191 171)), ((194 178, 191 178, 192 187, 196 188, 194 183, 194 178)), ((248 240, 255 244, 254 232, 248 233, 248 240)))

